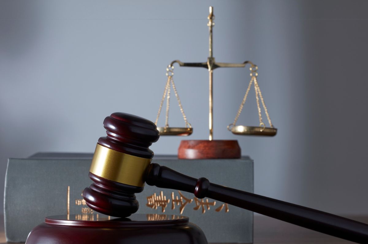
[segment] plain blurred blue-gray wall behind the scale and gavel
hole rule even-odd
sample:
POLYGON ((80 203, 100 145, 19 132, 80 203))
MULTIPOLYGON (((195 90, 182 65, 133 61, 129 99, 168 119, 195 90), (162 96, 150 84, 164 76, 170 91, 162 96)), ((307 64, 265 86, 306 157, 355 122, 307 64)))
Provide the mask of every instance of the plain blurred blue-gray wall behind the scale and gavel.
MULTIPOLYGON (((368 214, 367 1, 1 1, 1 179, 9 157, 92 152, 112 112, 154 120, 166 65, 208 56, 210 5, 216 60, 258 64, 279 129, 273 138, 228 132, 249 71, 214 72, 215 139, 239 140, 254 159, 255 192, 368 214)), ((175 69, 194 127, 187 139, 208 138, 207 79, 205 69, 175 69)), ((239 124, 257 125, 248 99, 239 124)), ((170 125, 182 126, 174 99, 171 111, 170 125)), ((175 154, 181 139, 151 148, 175 154)))

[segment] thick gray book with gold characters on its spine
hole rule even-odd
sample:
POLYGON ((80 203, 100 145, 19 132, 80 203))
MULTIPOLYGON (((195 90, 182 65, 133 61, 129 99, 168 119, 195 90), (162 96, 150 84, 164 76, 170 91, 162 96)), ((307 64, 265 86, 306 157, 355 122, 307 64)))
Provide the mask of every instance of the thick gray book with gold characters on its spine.
MULTIPOLYGON (((37 153, 8 160, 5 177, 4 222, 7 241, 24 242, 28 233, 46 216, 88 214, 82 191, 93 154, 37 153), (69 201, 68 201, 69 199, 69 201)), ((185 160, 155 156, 153 162, 192 177, 253 192, 253 161, 241 159, 185 160)), ((253 213, 194 194, 145 185, 136 194, 138 213, 174 214, 190 218, 205 233, 209 243, 252 243, 253 213)))

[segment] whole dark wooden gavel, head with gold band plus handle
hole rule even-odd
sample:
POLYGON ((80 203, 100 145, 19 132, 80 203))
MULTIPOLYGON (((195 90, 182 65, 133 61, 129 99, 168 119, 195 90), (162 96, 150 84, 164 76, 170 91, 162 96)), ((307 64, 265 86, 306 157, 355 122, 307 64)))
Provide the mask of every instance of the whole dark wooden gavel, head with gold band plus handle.
POLYGON ((103 122, 107 136, 100 137, 93 155, 91 186, 83 198, 91 209, 102 214, 127 217, 137 212, 135 193, 150 186, 194 193, 212 198, 317 232, 357 243, 368 243, 368 225, 341 216, 276 200, 269 197, 195 179, 165 166, 151 163, 148 148, 159 139, 156 125, 144 118, 116 112, 103 122))

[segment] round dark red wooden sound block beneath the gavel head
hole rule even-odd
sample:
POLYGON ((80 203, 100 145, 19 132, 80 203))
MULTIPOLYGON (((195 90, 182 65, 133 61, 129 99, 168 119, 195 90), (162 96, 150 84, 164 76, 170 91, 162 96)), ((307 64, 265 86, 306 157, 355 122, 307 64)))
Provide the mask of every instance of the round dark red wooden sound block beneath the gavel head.
POLYGON ((101 214, 46 217, 29 233, 26 244, 207 244, 205 234, 189 218, 133 214, 115 218, 101 214))

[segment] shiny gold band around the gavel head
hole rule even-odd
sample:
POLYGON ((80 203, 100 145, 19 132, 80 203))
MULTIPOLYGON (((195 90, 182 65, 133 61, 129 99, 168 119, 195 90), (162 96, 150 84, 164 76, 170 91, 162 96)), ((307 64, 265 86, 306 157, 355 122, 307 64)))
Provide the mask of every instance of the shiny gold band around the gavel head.
POLYGON ((144 186, 143 175, 152 159, 132 156, 97 144, 89 172, 131 186, 144 186))

